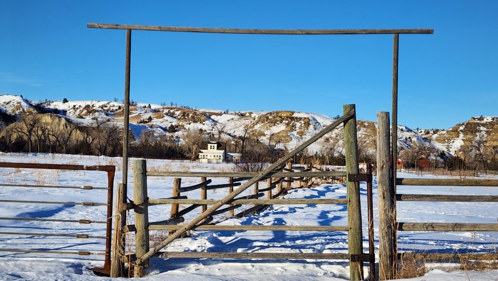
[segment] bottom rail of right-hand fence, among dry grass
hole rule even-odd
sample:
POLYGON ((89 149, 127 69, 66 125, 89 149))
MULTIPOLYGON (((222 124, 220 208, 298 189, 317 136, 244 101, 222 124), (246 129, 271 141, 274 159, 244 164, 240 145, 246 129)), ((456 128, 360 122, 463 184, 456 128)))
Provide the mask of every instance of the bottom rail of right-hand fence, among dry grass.
POLYGON ((460 261, 481 260, 496 261, 497 253, 398 253, 398 259, 431 260, 431 261, 460 261))

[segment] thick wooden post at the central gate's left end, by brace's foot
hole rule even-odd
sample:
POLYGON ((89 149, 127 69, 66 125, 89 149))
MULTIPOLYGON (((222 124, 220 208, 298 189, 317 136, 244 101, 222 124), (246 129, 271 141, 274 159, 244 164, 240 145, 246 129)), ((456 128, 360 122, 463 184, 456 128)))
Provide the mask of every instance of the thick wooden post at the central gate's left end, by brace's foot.
MULTIPOLYGON (((135 204, 135 253, 137 257, 149 251, 147 175, 145 159, 133 161, 133 202, 135 204)), ((143 277, 147 263, 135 266, 134 277, 143 277)))

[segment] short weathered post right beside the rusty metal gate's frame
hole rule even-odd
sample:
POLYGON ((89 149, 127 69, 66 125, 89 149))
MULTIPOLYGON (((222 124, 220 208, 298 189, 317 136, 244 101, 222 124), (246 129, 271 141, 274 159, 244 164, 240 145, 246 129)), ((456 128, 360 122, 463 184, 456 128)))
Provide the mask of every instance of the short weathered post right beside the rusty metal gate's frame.
POLYGON ((121 257, 125 256, 125 240, 123 228, 126 225, 126 194, 124 194, 124 184, 118 184, 116 190, 116 220, 114 223, 114 237, 111 260, 111 277, 124 277, 124 263, 121 257))

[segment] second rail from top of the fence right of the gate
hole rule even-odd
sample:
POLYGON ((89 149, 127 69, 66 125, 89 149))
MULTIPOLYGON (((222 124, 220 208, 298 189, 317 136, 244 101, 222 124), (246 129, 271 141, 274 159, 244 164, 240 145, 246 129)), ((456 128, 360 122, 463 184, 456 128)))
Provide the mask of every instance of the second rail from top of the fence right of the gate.
POLYGON ((498 202, 493 195, 433 195, 433 194, 396 194, 397 201, 432 202, 498 202))

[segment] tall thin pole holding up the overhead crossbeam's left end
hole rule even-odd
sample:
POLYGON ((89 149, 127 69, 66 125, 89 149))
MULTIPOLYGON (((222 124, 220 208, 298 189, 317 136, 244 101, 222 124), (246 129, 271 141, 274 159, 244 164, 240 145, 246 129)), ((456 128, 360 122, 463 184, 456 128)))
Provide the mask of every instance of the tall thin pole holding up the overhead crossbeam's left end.
POLYGON ((128 133, 129 133, 129 74, 131 59, 131 29, 126 29, 126 51, 124 59, 124 131, 123 131, 123 184, 126 194, 128 183, 128 133))

